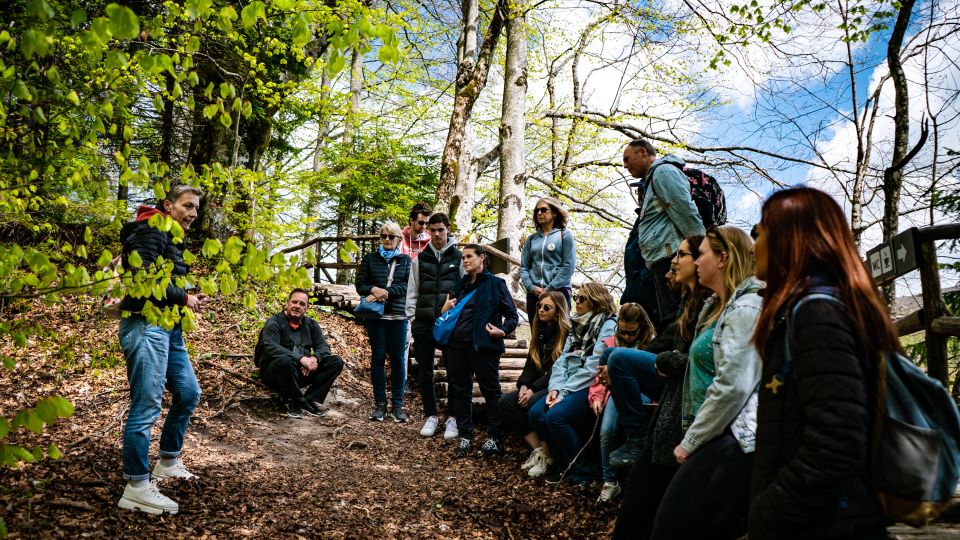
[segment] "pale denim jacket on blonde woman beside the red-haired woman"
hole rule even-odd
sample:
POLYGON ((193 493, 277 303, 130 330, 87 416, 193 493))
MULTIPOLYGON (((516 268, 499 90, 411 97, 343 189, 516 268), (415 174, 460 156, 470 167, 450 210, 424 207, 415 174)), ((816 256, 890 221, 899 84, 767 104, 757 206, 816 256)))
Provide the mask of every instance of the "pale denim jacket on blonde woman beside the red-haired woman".
MULTIPOLYGON (((762 366, 752 340, 763 302, 757 293, 762 287, 763 282, 753 276, 743 280, 717 319, 712 342, 717 374, 680 443, 691 454, 723 433, 727 426, 744 453, 754 450, 757 389, 762 366)), ((684 382, 684 416, 690 409, 687 383, 684 382)))

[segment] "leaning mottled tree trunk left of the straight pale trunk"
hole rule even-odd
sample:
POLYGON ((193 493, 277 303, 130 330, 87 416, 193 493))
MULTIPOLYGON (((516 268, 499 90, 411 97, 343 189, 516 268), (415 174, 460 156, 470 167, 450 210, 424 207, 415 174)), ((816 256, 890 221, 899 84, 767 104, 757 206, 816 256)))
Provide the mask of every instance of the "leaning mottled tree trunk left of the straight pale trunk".
MULTIPOLYGON (((474 1, 474 0, 470 0, 474 1)), ((453 112, 450 114, 450 127, 447 131, 447 141, 443 147, 443 156, 440 158, 440 182, 437 185, 437 202, 434 209, 438 212, 449 212, 450 199, 456 187, 460 168, 460 153, 463 148, 463 139, 467 121, 473 106, 480 97, 480 92, 487 84, 487 75, 490 71, 490 59, 497 48, 500 34, 503 32, 503 13, 507 0, 498 0, 497 7, 490 20, 490 26, 483 38, 477 55, 476 65, 465 58, 457 66, 456 94, 453 100, 453 112)), ((466 201, 465 201, 466 202, 466 201)), ((472 206, 473 201, 469 201, 472 206)), ((462 205, 462 203, 461 203, 462 205)))

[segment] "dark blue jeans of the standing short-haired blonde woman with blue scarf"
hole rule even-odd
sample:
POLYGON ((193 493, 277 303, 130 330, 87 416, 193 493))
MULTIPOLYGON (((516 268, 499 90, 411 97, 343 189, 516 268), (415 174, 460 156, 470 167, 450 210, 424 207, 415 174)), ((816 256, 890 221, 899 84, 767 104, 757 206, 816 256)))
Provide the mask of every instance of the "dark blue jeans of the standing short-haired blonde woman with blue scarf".
POLYGON ((390 397, 394 407, 403 406, 403 387, 407 382, 407 324, 406 319, 388 321, 367 320, 370 336, 370 380, 373 382, 373 400, 387 402, 387 374, 384 365, 390 354, 390 397))

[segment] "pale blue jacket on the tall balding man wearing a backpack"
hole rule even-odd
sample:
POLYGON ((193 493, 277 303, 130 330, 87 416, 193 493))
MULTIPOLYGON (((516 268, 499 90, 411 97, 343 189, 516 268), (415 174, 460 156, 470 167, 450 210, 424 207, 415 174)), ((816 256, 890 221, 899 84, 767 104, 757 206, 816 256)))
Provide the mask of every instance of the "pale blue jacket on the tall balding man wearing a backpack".
POLYGON ((671 163, 685 165, 677 156, 663 156, 653 162, 643 179, 646 188, 636 227, 640 254, 648 266, 673 256, 684 237, 704 233, 697 205, 690 198, 690 181, 671 163))

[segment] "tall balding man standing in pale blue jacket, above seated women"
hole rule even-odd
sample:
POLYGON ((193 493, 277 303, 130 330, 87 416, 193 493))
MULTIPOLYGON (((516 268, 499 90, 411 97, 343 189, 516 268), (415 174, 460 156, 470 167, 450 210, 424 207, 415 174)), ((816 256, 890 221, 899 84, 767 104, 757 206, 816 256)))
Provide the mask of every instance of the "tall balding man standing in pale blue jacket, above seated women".
MULTIPOLYGON (((630 182, 630 187, 637 188, 640 202, 631 237, 636 235, 640 255, 652 274, 656 306, 644 305, 644 308, 657 308, 658 332, 676 318, 680 301, 679 294, 667 285, 670 261, 685 237, 704 233, 700 213, 690 197, 690 181, 682 170, 684 165, 682 159, 673 155, 657 159, 656 149, 644 139, 631 141, 623 151, 623 166, 639 179, 630 182)), ((628 273, 627 289, 630 289, 630 280, 628 273)))

